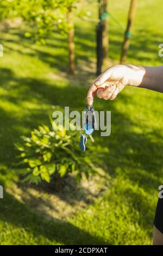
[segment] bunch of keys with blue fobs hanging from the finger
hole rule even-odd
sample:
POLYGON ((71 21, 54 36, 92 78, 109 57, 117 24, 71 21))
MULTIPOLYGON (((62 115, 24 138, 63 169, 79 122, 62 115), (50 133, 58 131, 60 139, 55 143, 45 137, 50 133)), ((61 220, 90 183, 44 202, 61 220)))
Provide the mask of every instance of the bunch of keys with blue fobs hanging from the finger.
POLYGON ((93 105, 86 105, 87 107, 83 111, 83 119, 82 119, 82 128, 80 129, 80 143, 79 147, 82 151, 85 151, 85 145, 87 142, 86 136, 89 136, 91 141, 94 142, 92 137, 93 131, 96 129, 96 117, 95 117, 95 109, 93 105), (82 130, 85 131, 84 134, 81 134, 82 130))

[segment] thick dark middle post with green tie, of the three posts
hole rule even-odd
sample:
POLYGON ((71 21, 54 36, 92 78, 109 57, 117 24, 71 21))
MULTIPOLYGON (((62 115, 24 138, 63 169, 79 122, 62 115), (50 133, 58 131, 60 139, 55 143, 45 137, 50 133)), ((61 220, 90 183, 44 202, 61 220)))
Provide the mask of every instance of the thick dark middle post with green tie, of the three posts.
POLYGON ((99 23, 97 25, 97 75, 101 74, 102 64, 108 55, 108 24, 106 17, 107 0, 99 0, 99 23))

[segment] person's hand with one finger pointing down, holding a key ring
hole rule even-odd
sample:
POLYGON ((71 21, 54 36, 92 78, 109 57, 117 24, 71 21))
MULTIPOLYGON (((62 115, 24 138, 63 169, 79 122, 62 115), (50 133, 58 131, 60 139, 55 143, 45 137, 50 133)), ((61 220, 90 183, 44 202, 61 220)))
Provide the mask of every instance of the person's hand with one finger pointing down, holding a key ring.
POLYGON ((115 65, 106 69, 90 87, 87 103, 92 105, 96 92, 100 99, 114 100, 125 86, 139 86, 145 72, 142 66, 134 65, 115 65))

